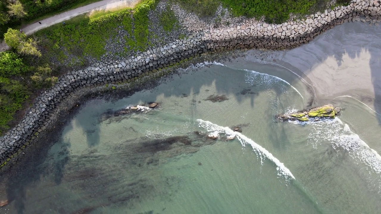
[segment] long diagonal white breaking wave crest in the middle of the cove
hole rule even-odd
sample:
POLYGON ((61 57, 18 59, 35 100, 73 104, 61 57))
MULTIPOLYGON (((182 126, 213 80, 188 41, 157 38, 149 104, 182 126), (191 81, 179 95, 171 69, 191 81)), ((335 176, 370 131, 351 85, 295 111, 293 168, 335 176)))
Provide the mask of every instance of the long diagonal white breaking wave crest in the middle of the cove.
POLYGON ((227 136, 235 136, 242 144, 242 146, 246 146, 250 144, 253 147, 254 152, 261 158, 261 163, 263 163, 263 158, 267 158, 274 162, 277 165, 278 176, 282 176, 285 179, 295 179, 292 175, 291 171, 285 167, 285 165, 280 162, 277 158, 274 157, 269 151, 261 147, 261 145, 256 144, 253 140, 246 137, 245 135, 235 132, 229 127, 222 127, 216 124, 211 123, 210 121, 197 120, 199 127, 206 129, 208 132, 211 132, 212 135, 224 133, 227 136))

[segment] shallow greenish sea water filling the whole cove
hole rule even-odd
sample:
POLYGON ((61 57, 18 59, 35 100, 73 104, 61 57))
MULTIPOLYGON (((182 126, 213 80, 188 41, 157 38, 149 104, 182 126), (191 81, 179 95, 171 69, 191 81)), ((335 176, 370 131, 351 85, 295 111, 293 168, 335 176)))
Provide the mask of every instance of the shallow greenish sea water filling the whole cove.
POLYGON ((381 212, 381 134, 366 105, 337 97, 345 110, 335 120, 278 123, 314 96, 290 70, 247 62, 180 73, 84 105, 43 160, 27 153, 26 170, 2 178, 1 197, 12 201, 1 213, 381 212), (154 101, 159 108, 107 116, 154 101))

